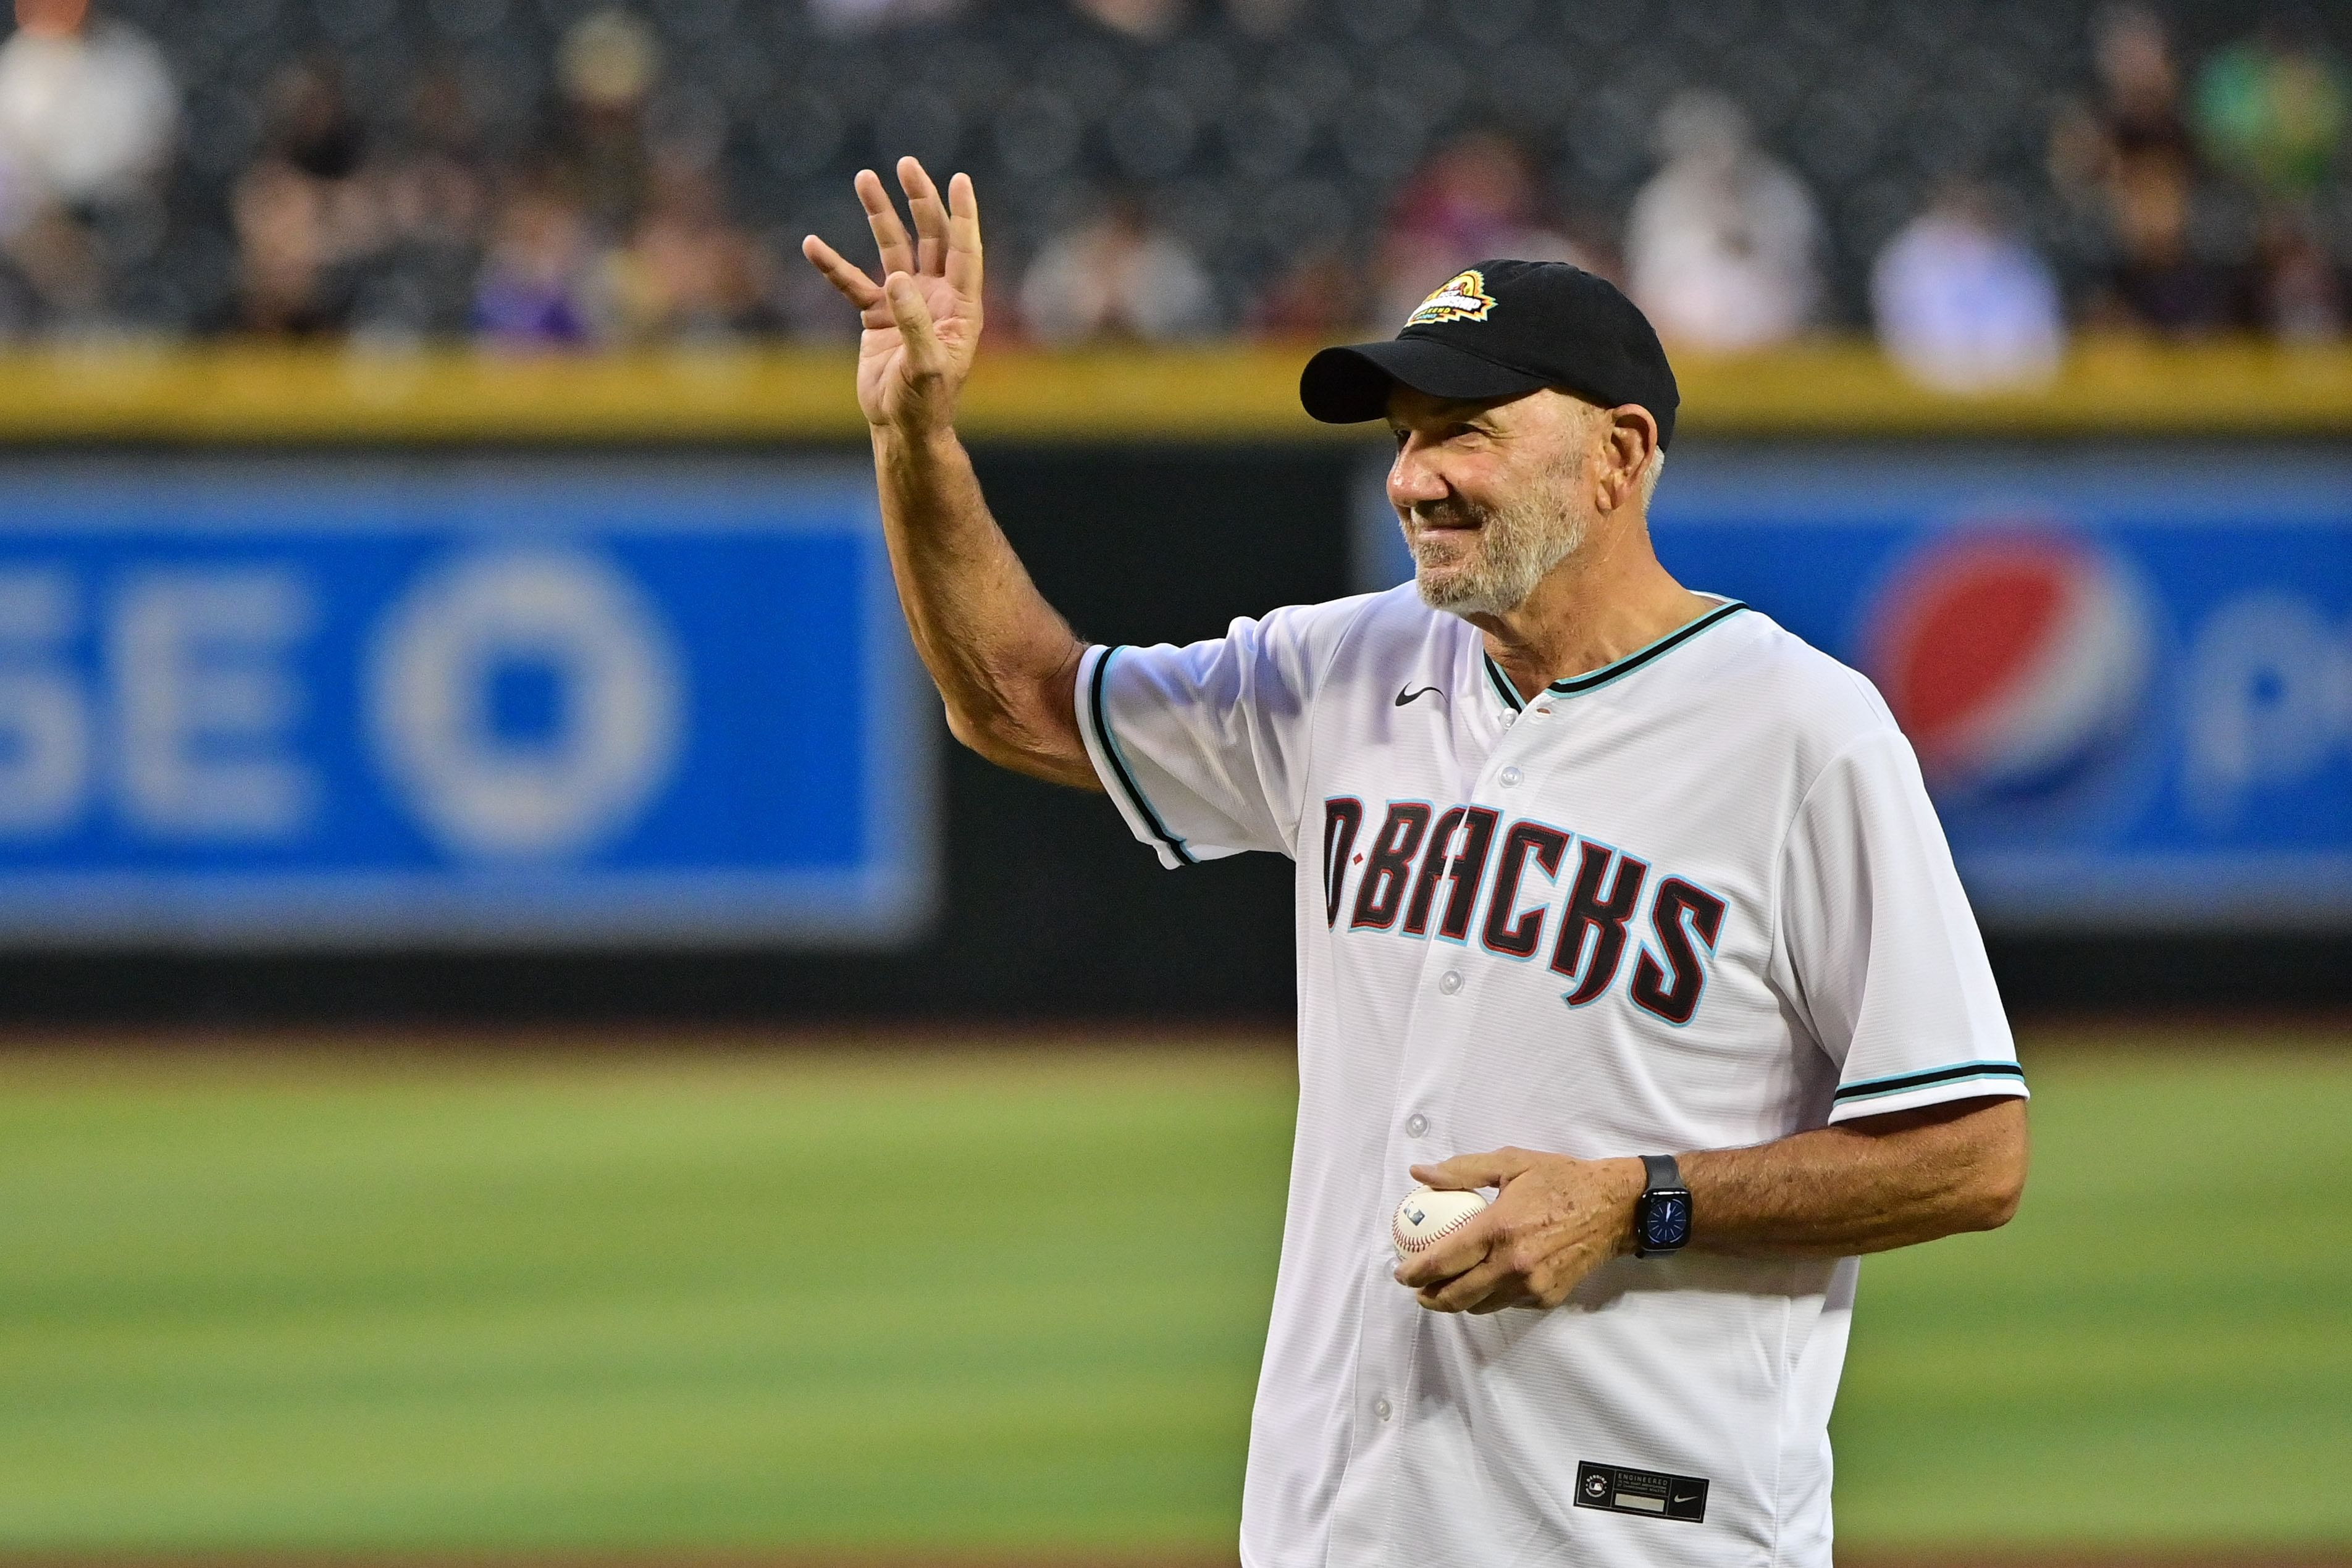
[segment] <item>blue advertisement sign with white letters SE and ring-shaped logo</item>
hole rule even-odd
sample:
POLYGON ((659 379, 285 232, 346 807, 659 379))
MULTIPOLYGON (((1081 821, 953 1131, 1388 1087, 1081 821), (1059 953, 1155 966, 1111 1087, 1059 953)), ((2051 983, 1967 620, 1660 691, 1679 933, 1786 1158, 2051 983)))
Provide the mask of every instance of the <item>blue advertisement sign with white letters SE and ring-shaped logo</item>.
POLYGON ((0 468, 0 938, 877 945, 934 705, 863 468, 0 468))

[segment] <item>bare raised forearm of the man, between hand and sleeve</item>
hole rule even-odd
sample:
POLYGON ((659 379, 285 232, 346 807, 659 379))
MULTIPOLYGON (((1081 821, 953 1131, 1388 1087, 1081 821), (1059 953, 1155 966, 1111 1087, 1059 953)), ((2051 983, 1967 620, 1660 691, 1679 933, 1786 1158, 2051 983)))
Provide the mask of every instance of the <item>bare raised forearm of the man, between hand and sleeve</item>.
POLYGON ((955 433, 877 428, 873 442, 898 604, 955 738, 1023 773, 1098 788, 1073 710, 1084 644, 988 515, 955 433))

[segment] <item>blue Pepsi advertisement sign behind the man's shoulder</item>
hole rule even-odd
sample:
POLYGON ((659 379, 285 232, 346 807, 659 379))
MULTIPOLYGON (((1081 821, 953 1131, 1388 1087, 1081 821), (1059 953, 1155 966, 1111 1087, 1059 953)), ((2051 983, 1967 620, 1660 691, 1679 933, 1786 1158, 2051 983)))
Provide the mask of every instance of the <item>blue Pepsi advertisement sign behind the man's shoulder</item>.
POLYGON ((1983 917, 2352 917, 2352 461, 1693 451, 1653 536, 1877 682, 1983 917))

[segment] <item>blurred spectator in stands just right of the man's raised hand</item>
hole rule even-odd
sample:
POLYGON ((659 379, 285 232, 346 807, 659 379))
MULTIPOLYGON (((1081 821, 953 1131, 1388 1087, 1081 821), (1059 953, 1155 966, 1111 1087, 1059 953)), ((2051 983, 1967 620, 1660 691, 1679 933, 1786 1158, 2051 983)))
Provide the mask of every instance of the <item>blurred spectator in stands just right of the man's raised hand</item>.
POLYGON ((1218 327, 1209 270, 1127 197, 1037 254, 1021 280, 1021 320, 1047 343, 1164 343, 1218 327))

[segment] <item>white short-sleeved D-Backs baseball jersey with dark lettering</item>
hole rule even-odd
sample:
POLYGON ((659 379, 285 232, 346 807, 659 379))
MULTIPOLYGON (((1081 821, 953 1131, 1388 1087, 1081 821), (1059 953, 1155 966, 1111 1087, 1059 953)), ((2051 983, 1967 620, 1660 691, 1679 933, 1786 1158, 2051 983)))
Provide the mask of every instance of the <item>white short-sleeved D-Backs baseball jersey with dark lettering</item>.
POLYGON ((1298 863, 1247 1568, 1825 1568, 1853 1258, 1621 1258, 1559 1309, 1454 1316, 1390 1279, 1388 1218, 1449 1154, 1675 1154, 2025 1093, 1870 682, 1722 602, 1522 698, 1406 583, 1091 649, 1077 710, 1167 865, 1298 863))

